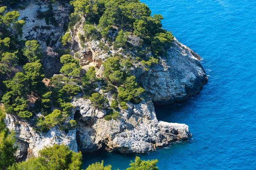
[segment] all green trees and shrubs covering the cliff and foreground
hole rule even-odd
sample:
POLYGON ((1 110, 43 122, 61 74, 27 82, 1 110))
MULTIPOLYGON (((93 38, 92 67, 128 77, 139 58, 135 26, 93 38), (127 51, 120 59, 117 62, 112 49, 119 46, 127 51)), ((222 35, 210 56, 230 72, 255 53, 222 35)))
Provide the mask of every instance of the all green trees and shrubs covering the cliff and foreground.
MULTIPOLYGON (((148 70, 158 63, 157 56, 166 54, 174 37, 162 28, 163 17, 151 16, 148 6, 139 0, 72 0, 70 4, 74 11, 69 17, 70 30, 73 31, 75 24, 85 17, 84 34, 79 35, 81 45, 84 46, 87 40, 99 40, 99 48, 110 57, 103 63, 103 77, 96 78, 95 67, 84 73, 79 59, 75 59, 80 57, 79 53, 67 49, 72 40, 71 32, 67 32, 61 38, 63 47, 52 50, 53 57, 60 57, 61 74, 48 82, 43 73, 39 42, 21 40, 25 21, 18 20, 17 11, 6 11, 6 6, 13 8, 18 2, 0 0, 0 97, 5 109, 0 109, 0 169, 81 170, 81 153, 70 151, 64 145, 44 148, 38 158, 14 164, 17 148, 14 147, 14 134, 5 129, 5 112, 19 116, 39 132, 55 127, 67 133, 78 126, 71 119, 71 99, 83 92, 84 98, 90 99, 95 108, 107 109, 105 120, 119 120, 119 109, 128 109, 127 102, 141 102, 145 91, 130 74, 132 63, 140 61, 148 70), (139 37, 139 45, 134 47, 131 43, 136 37, 139 37), (113 49, 118 52, 112 55, 113 49), (128 54, 131 51, 134 54, 128 54), (74 52, 75 58, 72 56, 74 52), (154 57, 148 57, 151 53, 154 57), (108 99, 98 93, 97 87, 112 95, 111 109, 108 99), (39 112, 41 116, 38 116, 39 112)), ((47 25, 57 26, 51 3, 55 0, 50 0, 49 10, 39 10, 37 17, 44 19, 47 25)), ((47 40, 49 44, 50 40, 47 40)), ((136 157, 127 170, 157 170, 156 164, 157 160, 142 161, 136 157)), ((111 170, 111 165, 104 166, 102 161, 87 168, 98 169, 111 170)))

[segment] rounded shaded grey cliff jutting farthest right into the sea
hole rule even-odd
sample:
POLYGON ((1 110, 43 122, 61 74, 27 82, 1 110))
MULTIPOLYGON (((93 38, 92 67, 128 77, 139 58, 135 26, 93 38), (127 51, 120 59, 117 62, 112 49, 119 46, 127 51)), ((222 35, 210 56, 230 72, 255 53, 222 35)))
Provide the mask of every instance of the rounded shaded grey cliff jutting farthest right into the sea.
POLYGON ((207 82, 200 59, 198 54, 175 38, 168 54, 160 57, 158 65, 149 71, 137 69, 134 74, 154 103, 171 104, 198 94, 207 82))

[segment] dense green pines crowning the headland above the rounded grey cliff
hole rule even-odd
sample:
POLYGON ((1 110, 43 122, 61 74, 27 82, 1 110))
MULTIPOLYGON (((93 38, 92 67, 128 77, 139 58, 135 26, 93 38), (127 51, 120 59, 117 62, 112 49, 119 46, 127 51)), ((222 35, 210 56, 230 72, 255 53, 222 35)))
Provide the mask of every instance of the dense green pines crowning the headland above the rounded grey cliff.
POLYGON ((102 36, 111 40, 109 33, 118 30, 114 42, 116 49, 125 48, 128 34, 142 38, 156 55, 163 54, 173 40, 171 32, 162 28, 163 16, 151 16, 148 6, 140 0, 73 0, 70 4, 75 8, 72 16, 86 18, 85 37, 100 39, 102 36))

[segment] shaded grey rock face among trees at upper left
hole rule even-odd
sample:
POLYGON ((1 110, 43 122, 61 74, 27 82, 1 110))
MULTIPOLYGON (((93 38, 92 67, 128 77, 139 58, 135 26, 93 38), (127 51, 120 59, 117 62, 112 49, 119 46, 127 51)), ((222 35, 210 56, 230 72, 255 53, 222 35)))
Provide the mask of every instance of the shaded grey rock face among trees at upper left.
POLYGON ((47 47, 52 47, 65 33, 68 25, 68 16, 71 13, 69 3, 57 2, 50 4, 47 1, 31 0, 25 9, 18 10, 19 20, 25 20, 23 26, 23 39, 38 40, 44 54, 43 67, 46 77, 58 74, 61 63, 57 57, 46 55, 47 47), (44 12, 49 13, 49 6, 52 6, 52 16, 48 17, 44 12))

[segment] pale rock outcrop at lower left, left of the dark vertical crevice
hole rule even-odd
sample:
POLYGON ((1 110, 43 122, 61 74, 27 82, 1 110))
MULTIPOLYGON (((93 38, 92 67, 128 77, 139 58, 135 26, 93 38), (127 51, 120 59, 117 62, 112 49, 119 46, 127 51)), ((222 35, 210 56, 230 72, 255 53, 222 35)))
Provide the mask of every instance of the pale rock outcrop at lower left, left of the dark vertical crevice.
POLYGON ((53 144, 65 144, 70 149, 77 151, 76 130, 65 133, 58 127, 52 128, 47 133, 36 132, 27 122, 15 115, 6 114, 4 120, 6 127, 15 132, 17 139, 17 161, 25 160, 31 156, 38 156, 38 151, 53 144))

